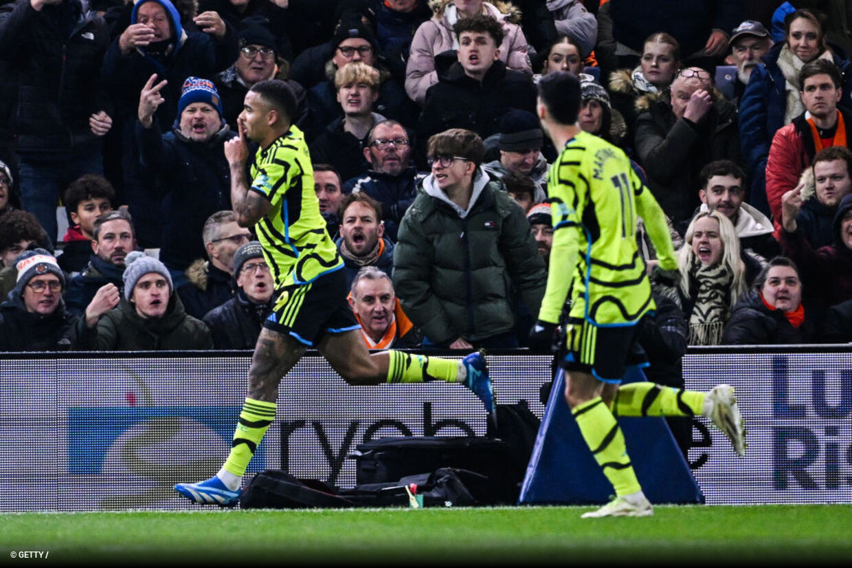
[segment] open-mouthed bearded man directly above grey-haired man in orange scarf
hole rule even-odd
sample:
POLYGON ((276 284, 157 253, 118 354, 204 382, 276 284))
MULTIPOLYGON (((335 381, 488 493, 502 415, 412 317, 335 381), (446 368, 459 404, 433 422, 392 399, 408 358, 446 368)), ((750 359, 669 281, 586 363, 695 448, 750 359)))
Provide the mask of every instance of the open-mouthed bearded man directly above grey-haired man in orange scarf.
POLYGON ((369 195, 348 194, 340 205, 340 238, 337 250, 346 266, 346 284, 365 266, 375 266, 385 274, 394 270, 394 243, 384 237, 382 206, 369 195))

